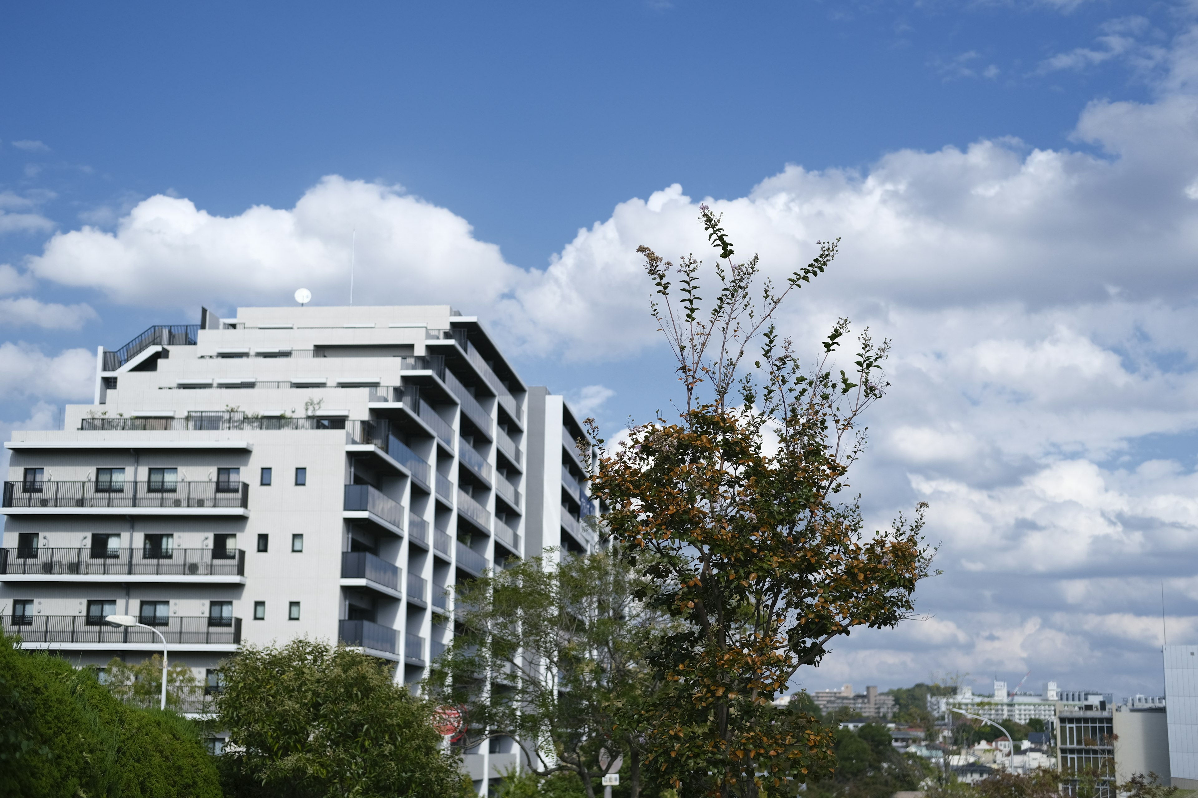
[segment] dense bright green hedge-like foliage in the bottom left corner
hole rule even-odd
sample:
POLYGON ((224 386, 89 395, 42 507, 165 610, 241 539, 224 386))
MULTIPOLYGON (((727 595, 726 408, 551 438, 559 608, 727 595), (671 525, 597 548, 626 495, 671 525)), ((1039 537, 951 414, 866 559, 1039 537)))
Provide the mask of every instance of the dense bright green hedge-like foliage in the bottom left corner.
POLYGON ((218 798, 198 727, 114 698, 75 669, 0 636, 0 794, 12 798, 218 798))

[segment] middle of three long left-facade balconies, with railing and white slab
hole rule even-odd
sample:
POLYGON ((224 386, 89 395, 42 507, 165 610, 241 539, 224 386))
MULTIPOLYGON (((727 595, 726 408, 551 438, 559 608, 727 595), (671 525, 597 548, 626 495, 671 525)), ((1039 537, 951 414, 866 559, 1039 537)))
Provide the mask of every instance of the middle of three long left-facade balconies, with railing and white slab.
POLYGON ((242 550, 0 549, 0 581, 244 584, 244 574, 242 550))

